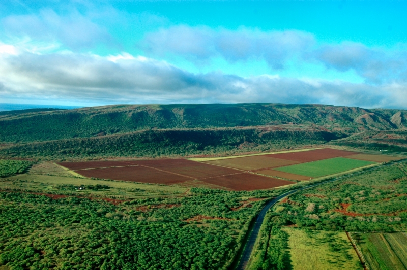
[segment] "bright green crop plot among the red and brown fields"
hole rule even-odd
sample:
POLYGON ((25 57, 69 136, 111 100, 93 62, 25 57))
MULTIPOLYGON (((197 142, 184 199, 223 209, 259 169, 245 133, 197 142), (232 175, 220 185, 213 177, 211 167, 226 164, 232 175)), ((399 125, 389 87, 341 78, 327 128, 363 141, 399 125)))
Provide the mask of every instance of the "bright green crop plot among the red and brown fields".
POLYGON ((330 159, 279 167, 275 168, 274 170, 309 177, 320 177, 349 171, 354 168, 364 167, 371 164, 376 164, 376 162, 335 157, 330 159))

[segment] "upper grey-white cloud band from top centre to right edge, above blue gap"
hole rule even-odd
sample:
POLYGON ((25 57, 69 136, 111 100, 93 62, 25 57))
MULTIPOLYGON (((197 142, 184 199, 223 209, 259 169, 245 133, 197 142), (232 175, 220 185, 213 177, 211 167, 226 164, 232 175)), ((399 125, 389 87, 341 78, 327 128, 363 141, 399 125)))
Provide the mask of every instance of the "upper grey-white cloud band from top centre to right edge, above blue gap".
POLYGON ((308 32, 173 26, 148 33, 141 48, 152 57, 178 55, 192 61, 222 57, 229 63, 263 59, 275 70, 287 62, 322 64, 338 72, 354 70, 373 84, 407 81, 407 50, 369 48, 360 43, 318 44, 308 32))

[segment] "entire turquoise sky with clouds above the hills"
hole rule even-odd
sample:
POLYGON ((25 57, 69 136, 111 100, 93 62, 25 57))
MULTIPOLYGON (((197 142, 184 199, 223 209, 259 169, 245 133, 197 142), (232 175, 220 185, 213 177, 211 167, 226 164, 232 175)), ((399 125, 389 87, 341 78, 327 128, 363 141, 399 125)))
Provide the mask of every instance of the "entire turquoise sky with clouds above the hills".
POLYGON ((0 103, 407 109, 407 1, 0 2, 0 103))

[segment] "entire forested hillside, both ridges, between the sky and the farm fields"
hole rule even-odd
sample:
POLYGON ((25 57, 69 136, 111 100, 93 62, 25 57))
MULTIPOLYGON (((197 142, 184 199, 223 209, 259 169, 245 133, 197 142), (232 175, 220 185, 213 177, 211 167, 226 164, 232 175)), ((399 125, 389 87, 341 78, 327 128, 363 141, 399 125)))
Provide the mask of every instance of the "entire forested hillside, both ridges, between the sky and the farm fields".
MULTIPOLYGON (((0 114, 0 156, 233 154, 328 142, 371 148, 371 142, 361 144, 355 134, 405 130, 406 119, 404 110, 289 104, 112 105, 9 111, 0 114)), ((400 132, 399 139, 405 141, 405 132, 400 132)), ((402 152, 400 140, 387 140, 375 147, 397 146, 391 150, 402 152)))

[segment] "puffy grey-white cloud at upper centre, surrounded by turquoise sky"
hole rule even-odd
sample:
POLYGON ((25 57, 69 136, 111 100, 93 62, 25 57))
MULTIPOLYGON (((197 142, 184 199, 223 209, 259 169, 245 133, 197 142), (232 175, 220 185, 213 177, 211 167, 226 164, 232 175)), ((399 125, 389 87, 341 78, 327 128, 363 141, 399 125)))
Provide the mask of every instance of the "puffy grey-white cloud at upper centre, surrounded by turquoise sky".
POLYGON ((289 57, 309 50, 314 43, 311 33, 298 30, 264 32, 241 28, 232 31, 180 25, 148 33, 140 47, 151 55, 175 54, 193 61, 217 56, 231 63, 265 59, 275 69, 281 69, 289 57))

